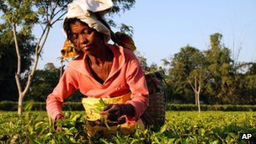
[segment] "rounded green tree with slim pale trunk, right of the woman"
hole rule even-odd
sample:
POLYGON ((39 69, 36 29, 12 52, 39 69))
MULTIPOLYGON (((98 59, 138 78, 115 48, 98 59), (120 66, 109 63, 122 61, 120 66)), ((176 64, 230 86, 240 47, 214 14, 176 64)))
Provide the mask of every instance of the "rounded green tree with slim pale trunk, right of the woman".
POLYGON ((171 78, 173 92, 179 97, 184 97, 184 101, 189 102, 191 98, 191 88, 195 93, 195 104, 200 111, 200 92, 205 78, 205 56, 192 46, 181 48, 180 52, 173 56, 171 62, 165 60, 170 65, 168 70, 171 78), (190 87, 190 88, 189 88, 190 87))

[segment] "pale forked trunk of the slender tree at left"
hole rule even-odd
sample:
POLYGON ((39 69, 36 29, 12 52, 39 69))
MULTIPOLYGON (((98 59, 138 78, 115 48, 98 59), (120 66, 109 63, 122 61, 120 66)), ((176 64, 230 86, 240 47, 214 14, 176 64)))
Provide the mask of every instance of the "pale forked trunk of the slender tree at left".
MULTIPOLYGON (((32 82, 32 78, 35 74, 35 70, 36 70, 36 67, 37 67, 37 64, 39 61, 40 52, 42 51, 42 49, 45 45, 45 41, 48 38, 50 29, 53 24, 55 24, 57 21, 59 21, 64 16, 64 14, 67 13, 67 12, 61 13, 61 11, 63 11, 64 8, 66 8, 68 3, 65 4, 65 6, 62 6, 61 8, 58 8, 60 2, 61 2, 60 0, 56 0, 56 1, 49 2, 49 3, 45 3, 45 9, 46 9, 45 19, 46 19, 46 21, 43 22, 44 23, 43 24, 44 27, 42 27, 43 31, 35 45, 34 64, 33 64, 33 67, 31 67, 31 70, 29 70, 29 72, 27 73, 27 74, 29 74, 29 77, 27 78, 27 81, 26 81, 24 87, 21 84, 21 77, 20 77, 20 75, 22 74, 22 72, 21 72, 21 56, 19 53, 19 45, 18 45, 18 37, 17 37, 18 33, 16 31, 17 30, 16 28, 17 28, 17 26, 20 25, 20 23, 13 19, 9 19, 11 26, 12 26, 12 30, 13 30, 13 40, 14 40, 15 51, 16 51, 16 55, 17 55, 17 71, 15 73, 15 81, 16 81, 16 85, 17 85, 17 88, 19 91, 19 104, 18 104, 18 114, 19 115, 22 114, 24 96, 29 90, 30 84, 32 82)), ((40 23, 37 23, 37 24, 40 24, 40 23)), ((43 25, 41 25, 41 26, 43 26, 43 25)))

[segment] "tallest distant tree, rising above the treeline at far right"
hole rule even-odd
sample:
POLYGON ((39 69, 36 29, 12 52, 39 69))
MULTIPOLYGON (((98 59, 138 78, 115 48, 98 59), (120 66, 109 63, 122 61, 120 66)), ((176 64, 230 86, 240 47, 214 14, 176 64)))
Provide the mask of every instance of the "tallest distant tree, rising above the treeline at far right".
POLYGON ((222 35, 219 33, 210 35, 211 49, 205 51, 207 60, 207 71, 209 77, 205 85, 206 93, 209 95, 210 103, 235 103, 236 87, 234 85, 235 71, 230 50, 221 44, 222 35))

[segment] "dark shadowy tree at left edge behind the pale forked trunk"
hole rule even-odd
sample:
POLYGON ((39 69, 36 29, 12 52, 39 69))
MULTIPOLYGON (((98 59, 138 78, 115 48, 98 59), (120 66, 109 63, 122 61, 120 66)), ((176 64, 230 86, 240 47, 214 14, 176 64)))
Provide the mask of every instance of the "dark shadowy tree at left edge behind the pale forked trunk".
MULTIPOLYGON (((20 51, 20 59, 23 63, 20 71, 24 73, 29 70, 31 66, 31 59, 35 51, 35 40, 33 37, 18 34, 19 46, 23 46, 24 49, 20 51)), ((0 24, 0 100, 12 100, 15 101, 18 89, 15 86, 15 78, 13 77, 17 70, 17 60, 13 41, 13 33, 10 27, 0 24)), ((24 80, 24 77, 21 81, 24 80)))

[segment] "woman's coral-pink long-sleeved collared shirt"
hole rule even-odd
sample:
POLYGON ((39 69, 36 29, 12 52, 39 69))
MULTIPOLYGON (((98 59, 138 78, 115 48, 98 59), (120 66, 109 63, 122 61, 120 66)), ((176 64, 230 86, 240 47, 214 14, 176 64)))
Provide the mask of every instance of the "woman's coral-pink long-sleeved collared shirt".
POLYGON ((135 116, 129 120, 138 120, 148 106, 148 90, 144 72, 134 53, 120 46, 109 45, 114 54, 114 61, 109 77, 103 84, 93 78, 86 54, 71 61, 60 82, 46 99, 46 109, 52 120, 61 114, 64 99, 76 89, 88 98, 111 98, 131 92, 131 100, 126 104, 133 105, 135 116))

